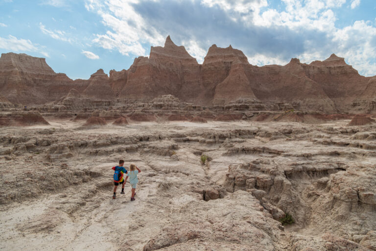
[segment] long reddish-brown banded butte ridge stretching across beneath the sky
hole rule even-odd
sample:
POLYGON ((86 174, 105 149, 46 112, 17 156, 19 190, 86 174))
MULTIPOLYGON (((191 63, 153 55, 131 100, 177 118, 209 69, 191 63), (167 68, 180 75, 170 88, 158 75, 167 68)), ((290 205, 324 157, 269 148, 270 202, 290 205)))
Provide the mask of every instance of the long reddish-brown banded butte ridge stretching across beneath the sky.
POLYGON ((73 81, 56 74, 44 58, 5 53, 0 58, 0 91, 12 103, 53 101, 69 109, 105 107, 116 100, 150 101, 161 95, 205 106, 241 100, 324 113, 371 113, 376 109, 375 77, 359 75, 335 54, 310 64, 293 58, 284 66, 258 67, 232 46, 212 45, 203 64, 198 64, 169 36, 164 47, 151 47, 149 57, 135 58, 128 70, 112 70, 107 75, 100 69, 88 80, 73 81))

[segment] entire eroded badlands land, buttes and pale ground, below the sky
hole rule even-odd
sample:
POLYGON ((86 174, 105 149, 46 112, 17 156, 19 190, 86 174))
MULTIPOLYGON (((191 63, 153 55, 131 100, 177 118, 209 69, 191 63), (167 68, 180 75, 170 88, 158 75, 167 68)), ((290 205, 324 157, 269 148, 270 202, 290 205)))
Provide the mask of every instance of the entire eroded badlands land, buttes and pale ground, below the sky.
POLYGON ((167 37, 88 80, 2 54, 0 250, 375 251, 375 117, 376 76, 334 54, 198 64, 167 37))

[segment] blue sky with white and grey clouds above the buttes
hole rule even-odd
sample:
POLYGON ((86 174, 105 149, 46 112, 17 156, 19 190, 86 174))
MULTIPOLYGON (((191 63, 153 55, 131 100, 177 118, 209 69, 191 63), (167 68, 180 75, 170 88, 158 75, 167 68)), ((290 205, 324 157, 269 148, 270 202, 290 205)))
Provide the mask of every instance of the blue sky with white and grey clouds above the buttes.
POLYGON ((376 75, 376 0, 0 0, 0 53, 87 79, 129 69, 167 35, 202 63, 213 44, 252 65, 325 60, 376 75))

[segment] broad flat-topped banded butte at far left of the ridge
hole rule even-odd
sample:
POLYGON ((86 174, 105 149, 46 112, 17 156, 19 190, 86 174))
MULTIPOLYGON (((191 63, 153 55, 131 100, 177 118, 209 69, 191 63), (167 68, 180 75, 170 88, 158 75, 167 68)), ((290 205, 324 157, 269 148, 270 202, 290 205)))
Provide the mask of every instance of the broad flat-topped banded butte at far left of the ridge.
POLYGON ((56 74, 45 58, 3 53, 0 58, 0 92, 13 103, 41 104, 60 99, 71 88, 82 91, 65 74, 56 74))

